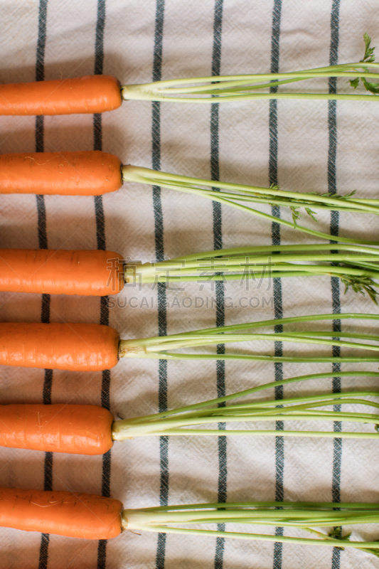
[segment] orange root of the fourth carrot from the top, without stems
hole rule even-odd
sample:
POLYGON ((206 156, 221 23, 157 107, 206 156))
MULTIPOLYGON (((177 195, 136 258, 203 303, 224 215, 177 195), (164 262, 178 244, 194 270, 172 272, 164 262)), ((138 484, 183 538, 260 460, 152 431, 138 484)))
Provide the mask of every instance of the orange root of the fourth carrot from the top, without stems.
POLYGON ((0 364, 100 371, 118 361, 119 334, 102 324, 0 323, 0 364))

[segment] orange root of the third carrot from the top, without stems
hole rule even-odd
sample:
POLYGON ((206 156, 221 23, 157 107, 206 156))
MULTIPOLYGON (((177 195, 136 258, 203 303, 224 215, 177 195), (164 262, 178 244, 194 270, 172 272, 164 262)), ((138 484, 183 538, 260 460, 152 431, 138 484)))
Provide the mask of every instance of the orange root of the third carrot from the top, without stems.
POLYGON ((113 251, 0 249, 0 291, 117 294, 124 287, 121 261, 113 251))

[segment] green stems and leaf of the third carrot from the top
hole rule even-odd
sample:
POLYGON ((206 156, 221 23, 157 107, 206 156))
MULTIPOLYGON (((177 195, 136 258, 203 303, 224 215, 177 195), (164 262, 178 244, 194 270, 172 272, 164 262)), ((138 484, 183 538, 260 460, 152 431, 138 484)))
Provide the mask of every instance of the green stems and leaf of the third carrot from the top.
POLYGON ((262 245, 183 255, 169 261, 127 263, 125 281, 156 282, 262 280, 271 277, 339 277, 345 292, 368 294, 376 304, 379 249, 360 245, 262 245), (333 247, 333 248, 332 248, 333 247), (321 263, 328 262, 328 265, 321 263), (310 264, 313 263, 313 264, 310 264))

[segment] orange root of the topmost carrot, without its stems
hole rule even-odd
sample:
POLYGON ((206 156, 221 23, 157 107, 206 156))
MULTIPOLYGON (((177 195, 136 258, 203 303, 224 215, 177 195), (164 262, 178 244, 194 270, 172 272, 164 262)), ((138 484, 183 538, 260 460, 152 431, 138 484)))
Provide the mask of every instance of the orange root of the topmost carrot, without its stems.
POLYGON ((110 75, 0 85, 0 115, 92 114, 121 103, 121 86, 110 75))

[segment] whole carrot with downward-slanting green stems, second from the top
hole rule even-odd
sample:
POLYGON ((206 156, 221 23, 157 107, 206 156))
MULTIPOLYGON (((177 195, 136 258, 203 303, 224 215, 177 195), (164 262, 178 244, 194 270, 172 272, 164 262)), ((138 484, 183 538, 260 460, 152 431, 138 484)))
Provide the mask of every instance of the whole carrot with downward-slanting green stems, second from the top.
MULTIPOLYGON (((337 199, 329 194, 298 193, 282 190, 278 186, 263 188, 214 180, 196 179, 142 168, 122 165, 117 156, 100 151, 50 152, 28 154, 5 154, 0 156, 0 193, 37 193, 73 195, 101 195, 116 191, 124 181, 160 186, 171 190, 194 193, 196 196, 218 201, 225 206, 237 208, 253 216, 275 221, 286 227, 297 229, 314 237, 330 240, 331 235, 307 228, 297 223, 300 208, 314 218, 314 209, 372 213, 378 215, 379 206, 375 200, 352 197, 350 194, 337 199), (205 187, 202 187, 205 186, 205 187), (213 188, 217 186, 217 196, 213 188), (240 202, 244 202, 242 205, 240 202), (292 211, 292 222, 275 218, 247 205, 265 203, 285 206, 292 211), (305 206, 308 207, 305 207, 305 206), (310 209, 311 208, 311 209, 310 209)), ((356 245, 378 245, 378 241, 361 240, 338 235, 341 243, 356 245)))

